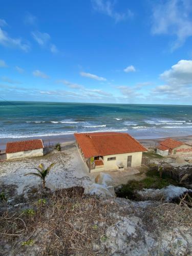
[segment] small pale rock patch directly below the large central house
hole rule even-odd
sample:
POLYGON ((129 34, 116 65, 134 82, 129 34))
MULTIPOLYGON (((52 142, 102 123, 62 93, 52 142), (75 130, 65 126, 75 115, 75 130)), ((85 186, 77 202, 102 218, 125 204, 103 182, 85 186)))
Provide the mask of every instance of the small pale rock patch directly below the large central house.
POLYGON ((104 186, 97 183, 87 185, 84 194, 97 195, 102 198, 114 198, 115 190, 113 186, 104 186))

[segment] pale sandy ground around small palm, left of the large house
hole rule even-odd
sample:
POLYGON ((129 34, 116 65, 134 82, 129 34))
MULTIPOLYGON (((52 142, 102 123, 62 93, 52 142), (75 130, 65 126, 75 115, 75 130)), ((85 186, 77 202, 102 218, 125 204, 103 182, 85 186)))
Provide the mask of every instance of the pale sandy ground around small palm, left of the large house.
POLYGON ((44 157, 33 157, 0 163, 0 184, 16 185, 17 193, 22 194, 29 186, 40 184, 36 176, 24 176, 27 173, 35 172, 31 169, 40 163, 46 166, 55 163, 49 176, 46 186, 55 188, 65 188, 75 185, 82 185, 86 180, 90 180, 88 172, 74 143, 66 143, 62 152, 49 153, 44 157))

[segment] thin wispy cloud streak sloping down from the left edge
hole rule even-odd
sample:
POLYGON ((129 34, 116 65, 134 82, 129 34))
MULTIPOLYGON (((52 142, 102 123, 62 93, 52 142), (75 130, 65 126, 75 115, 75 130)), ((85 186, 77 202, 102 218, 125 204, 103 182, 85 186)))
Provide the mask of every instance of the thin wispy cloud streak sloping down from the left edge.
POLYGON ((0 44, 5 47, 19 48, 24 52, 30 50, 28 43, 24 42, 21 38, 11 38, 8 34, 0 28, 0 44))

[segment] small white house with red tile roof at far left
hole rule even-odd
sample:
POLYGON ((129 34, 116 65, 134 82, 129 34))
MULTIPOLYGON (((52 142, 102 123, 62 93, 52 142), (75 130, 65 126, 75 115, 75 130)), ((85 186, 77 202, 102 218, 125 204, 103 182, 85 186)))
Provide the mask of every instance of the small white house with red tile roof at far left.
POLYGON ((7 159, 36 157, 44 155, 44 143, 41 139, 8 142, 7 159))

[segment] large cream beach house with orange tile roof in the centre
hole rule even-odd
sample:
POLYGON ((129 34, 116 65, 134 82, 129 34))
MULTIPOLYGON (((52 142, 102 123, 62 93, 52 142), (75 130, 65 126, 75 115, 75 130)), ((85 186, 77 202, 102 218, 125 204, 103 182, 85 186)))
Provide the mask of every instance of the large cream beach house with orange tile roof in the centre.
POLYGON ((74 136, 91 173, 140 166, 142 152, 147 151, 127 133, 75 133, 74 136))

